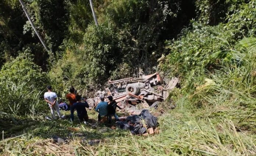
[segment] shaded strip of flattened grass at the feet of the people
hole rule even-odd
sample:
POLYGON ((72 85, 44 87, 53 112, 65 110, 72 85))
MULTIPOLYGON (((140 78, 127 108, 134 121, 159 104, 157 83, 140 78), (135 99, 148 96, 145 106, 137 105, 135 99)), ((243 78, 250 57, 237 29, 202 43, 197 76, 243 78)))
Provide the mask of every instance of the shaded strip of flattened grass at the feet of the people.
POLYGON ((76 116, 74 122, 70 122, 70 118, 46 120, 45 116, 0 119, 0 130, 4 133, 5 139, 26 134, 27 139, 33 137, 48 139, 57 135, 71 140, 79 140, 81 138, 86 140, 102 140, 127 134, 127 131, 111 129, 115 127, 114 122, 111 125, 103 124, 89 117, 88 124, 85 125, 84 123, 79 123, 76 116))

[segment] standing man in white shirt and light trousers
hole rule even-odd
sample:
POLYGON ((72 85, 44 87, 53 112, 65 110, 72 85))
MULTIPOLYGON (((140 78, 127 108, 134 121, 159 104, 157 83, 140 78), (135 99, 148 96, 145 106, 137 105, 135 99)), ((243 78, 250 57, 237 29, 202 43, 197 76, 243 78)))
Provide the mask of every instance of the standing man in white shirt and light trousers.
POLYGON ((60 114, 60 108, 58 106, 57 102, 57 94, 54 92, 51 92, 51 86, 47 86, 48 92, 45 92, 45 101, 48 103, 48 105, 51 108, 51 114, 53 115, 53 118, 55 118, 54 111, 57 111, 58 116, 61 118, 60 114))

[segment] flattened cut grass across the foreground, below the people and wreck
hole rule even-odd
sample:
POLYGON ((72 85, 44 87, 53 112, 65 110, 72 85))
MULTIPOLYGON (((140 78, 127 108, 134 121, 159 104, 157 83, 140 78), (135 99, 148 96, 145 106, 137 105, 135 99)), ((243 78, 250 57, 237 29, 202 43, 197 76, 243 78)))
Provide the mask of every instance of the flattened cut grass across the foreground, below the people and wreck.
MULTIPOLYGON (((189 100, 183 97, 177 101, 178 107, 167 110, 169 103, 158 110, 159 134, 148 137, 131 135, 129 131, 115 129, 100 124, 71 123, 69 120, 43 120, 44 115, 19 120, 4 127, 4 137, 17 138, 0 141, 1 154, 5 155, 255 155, 256 135, 250 131, 238 130, 230 119, 212 117, 215 109, 191 109, 189 100), (209 115, 209 116, 207 116, 209 115), (72 128, 72 129, 71 129, 72 128), (75 130, 76 129, 76 130, 75 130), (82 132, 86 140, 100 139, 100 144, 89 145, 81 142, 83 137, 69 137, 68 144, 51 142, 51 135, 68 137, 69 133, 82 132)), ((224 111, 224 110, 223 110, 224 111)), ((221 114, 221 112, 217 112, 221 114)), ((120 114, 121 115, 121 114, 120 114)), ((94 112, 89 118, 96 120, 94 112)))

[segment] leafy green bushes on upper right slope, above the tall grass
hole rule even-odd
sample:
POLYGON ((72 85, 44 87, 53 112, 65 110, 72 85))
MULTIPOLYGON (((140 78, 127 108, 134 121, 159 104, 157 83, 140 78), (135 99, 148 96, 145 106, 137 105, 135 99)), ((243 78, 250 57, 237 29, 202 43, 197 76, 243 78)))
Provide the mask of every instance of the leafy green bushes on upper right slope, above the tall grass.
POLYGON ((235 60, 233 55, 237 41, 256 32, 255 2, 240 5, 233 15, 228 16, 228 23, 218 26, 204 26, 192 23, 192 29, 184 29, 176 41, 167 41, 170 54, 161 60, 159 66, 172 75, 193 75, 211 71, 220 62, 235 60), (245 20, 246 19, 246 20, 245 20), (248 29, 249 28, 249 29, 248 29))

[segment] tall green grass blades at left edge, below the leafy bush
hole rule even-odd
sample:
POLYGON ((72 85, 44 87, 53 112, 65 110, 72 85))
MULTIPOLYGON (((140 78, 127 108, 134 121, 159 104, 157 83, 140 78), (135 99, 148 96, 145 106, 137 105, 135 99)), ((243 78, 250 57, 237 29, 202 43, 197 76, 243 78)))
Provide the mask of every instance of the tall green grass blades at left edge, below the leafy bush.
POLYGON ((11 115, 34 115, 44 111, 42 91, 38 91, 29 82, 14 83, 1 81, 0 112, 11 115))

